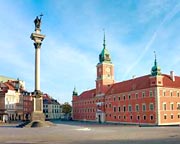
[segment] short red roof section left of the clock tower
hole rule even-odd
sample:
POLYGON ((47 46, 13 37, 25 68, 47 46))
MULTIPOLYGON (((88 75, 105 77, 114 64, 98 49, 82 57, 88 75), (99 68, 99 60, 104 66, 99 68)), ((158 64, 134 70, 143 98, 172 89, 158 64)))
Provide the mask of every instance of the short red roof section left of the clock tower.
POLYGON ((83 93, 81 93, 78 96, 78 100, 93 98, 93 97, 95 97, 95 95, 96 95, 96 89, 91 89, 91 90, 88 90, 88 91, 84 91, 83 93))

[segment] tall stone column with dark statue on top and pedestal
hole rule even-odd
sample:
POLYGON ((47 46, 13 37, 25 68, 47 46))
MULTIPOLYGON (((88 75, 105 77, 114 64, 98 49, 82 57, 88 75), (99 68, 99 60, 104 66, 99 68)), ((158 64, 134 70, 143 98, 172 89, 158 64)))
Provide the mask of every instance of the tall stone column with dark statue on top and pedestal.
POLYGON ((37 16, 34 20, 35 32, 31 34, 31 39, 34 41, 35 47, 35 90, 34 90, 34 110, 31 115, 31 120, 44 121, 45 115, 43 113, 43 97, 42 92, 40 91, 40 49, 42 41, 45 38, 45 35, 42 35, 40 26, 41 18, 43 15, 40 15, 40 18, 37 16))

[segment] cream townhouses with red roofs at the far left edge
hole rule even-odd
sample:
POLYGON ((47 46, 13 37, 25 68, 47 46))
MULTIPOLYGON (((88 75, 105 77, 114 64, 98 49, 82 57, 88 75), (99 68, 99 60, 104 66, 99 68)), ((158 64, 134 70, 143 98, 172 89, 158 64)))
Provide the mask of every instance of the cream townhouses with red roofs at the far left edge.
MULTIPOLYGON (((5 79, 4 79, 5 80, 5 79)), ((0 83, 1 88, 1 121, 23 119, 23 95, 24 82, 20 80, 8 80, 0 83)))

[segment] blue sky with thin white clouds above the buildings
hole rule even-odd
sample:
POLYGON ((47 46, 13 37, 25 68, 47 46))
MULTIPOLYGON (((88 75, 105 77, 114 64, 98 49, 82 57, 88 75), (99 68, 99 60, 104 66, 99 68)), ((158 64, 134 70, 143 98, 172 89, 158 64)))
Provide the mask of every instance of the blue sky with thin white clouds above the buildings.
POLYGON ((180 75, 178 0, 0 0, 0 75, 34 90, 34 19, 43 13, 41 90, 61 103, 95 87, 106 45, 117 82, 150 73, 156 51, 162 73, 180 75))

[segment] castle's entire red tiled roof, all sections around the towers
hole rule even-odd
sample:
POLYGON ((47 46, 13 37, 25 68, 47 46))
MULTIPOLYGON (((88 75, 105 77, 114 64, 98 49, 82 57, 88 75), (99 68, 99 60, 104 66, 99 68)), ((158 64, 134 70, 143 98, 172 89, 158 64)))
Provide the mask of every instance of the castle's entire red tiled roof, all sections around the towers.
MULTIPOLYGON (((162 76, 163 76, 163 87, 180 88, 179 76, 175 76, 175 81, 172 81, 169 75, 162 74, 162 76)), ((115 83, 107 91, 106 95, 150 88, 151 87, 150 77, 151 75, 145 75, 142 77, 137 77, 137 78, 130 79, 127 81, 115 83)), ((78 96, 78 100, 93 98, 95 97, 95 94, 96 94, 96 89, 85 91, 78 96)))

